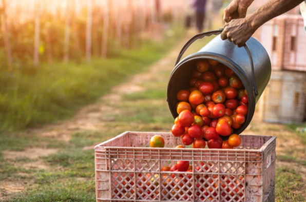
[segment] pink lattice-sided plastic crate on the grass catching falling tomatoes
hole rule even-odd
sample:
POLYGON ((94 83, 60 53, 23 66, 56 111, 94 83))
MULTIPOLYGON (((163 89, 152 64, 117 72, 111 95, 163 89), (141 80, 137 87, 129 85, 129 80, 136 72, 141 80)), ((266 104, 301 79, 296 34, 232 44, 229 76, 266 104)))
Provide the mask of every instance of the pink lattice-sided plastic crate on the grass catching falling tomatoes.
POLYGON ((97 202, 274 201, 276 137, 241 139, 235 149, 181 149, 171 133, 122 133, 95 147, 97 202), (166 148, 148 147, 157 134, 166 148), (161 171, 177 160, 193 172, 161 171))

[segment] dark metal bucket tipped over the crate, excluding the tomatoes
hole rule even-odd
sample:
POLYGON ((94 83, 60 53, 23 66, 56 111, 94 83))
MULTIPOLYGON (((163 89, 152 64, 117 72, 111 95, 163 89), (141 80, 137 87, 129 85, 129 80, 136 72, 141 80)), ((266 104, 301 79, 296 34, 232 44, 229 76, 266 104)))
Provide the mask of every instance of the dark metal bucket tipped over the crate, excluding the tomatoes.
MULTIPOLYGON (((234 133, 240 134, 250 124, 255 112, 255 105, 270 80, 271 61, 263 46, 255 38, 251 37, 248 39, 247 44, 244 45, 244 48, 238 48, 228 40, 223 41, 220 36, 216 36, 197 53, 188 55, 180 61, 185 50, 194 41, 204 36, 217 35, 221 32, 222 30, 215 30, 197 34, 184 45, 169 78, 167 102, 172 115, 177 117, 176 104, 179 101, 176 94, 182 89, 189 88, 189 80, 192 77, 192 71, 196 67, 196 63, 200 59, 215 59, 231 68, 240 78, 247 91, 248 113, 245 123, 241 128, 234 130, 234 133)), ((228 139, 228 136, 222 136, 222 138, 225 140, 228 139)))

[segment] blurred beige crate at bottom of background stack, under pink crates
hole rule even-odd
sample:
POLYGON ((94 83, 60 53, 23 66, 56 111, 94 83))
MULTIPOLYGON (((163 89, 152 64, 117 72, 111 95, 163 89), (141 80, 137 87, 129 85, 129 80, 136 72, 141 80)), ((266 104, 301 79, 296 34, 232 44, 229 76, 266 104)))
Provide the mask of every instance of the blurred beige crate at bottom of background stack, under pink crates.
POLYGON ((264 122, 301 123, 305 115, 306 73, 272 71, 270 82, 259 100, 264 122))

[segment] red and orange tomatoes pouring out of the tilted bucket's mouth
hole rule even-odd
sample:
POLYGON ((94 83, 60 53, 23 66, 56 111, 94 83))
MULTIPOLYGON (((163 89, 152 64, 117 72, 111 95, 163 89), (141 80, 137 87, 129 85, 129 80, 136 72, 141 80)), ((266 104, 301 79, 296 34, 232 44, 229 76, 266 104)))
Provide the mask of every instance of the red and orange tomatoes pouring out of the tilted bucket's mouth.
POLYGON ((248 97, 233 70, 216 60, 200 60, 188 90, 177 92, 179 116, 171 129, 184 145, 193 148, 232 149, 241 143, 234 129, 241 128, 248 112, 248 97), (230 136, 223 142, 220 136, 230 136), (205 138, 205 140, 203 139, 205 138))

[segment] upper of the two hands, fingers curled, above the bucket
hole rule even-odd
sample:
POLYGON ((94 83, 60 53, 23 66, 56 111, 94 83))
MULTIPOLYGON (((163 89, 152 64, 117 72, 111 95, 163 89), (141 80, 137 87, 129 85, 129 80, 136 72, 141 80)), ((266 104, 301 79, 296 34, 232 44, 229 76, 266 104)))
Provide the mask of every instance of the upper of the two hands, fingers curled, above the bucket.
POLYGON ((228 23, 232 19, 244 18, 247 8, 254 0, 234 0, 224 9, 223 21, 228 23))

